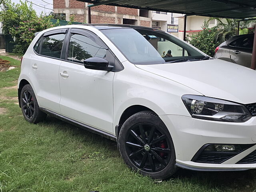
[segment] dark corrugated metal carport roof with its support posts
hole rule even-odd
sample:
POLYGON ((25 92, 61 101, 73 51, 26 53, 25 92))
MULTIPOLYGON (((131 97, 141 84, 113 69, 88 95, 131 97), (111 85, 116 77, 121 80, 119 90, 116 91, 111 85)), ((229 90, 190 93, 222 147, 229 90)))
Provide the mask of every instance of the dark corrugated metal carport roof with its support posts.
MULTIPOLYGON (((184 31, 186 31, 186 17, 200 15, 219 18, 245 19, 256 17, 256 0, 78 0, 91 3, 88 5, 90 21, 90 7, 98 5, 112 5, 136 9, 186 14, 184 17, 184 31)), ((89 22, 90 23, 90 22, 89 22)), ((184 33, 184 39, 185 39, 184 33)), ((254 45, 252 50, 252 65, 256 68, 256 25, 254 45)))

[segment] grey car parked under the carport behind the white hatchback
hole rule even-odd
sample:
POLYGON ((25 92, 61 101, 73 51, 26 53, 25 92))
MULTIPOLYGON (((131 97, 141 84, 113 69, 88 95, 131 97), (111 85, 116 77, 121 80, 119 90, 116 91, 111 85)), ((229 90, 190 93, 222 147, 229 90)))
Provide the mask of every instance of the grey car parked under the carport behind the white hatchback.
POLYGON ((254 34, 238 35, 226 40, 215 49, 214 58, 251 67, 254 34))

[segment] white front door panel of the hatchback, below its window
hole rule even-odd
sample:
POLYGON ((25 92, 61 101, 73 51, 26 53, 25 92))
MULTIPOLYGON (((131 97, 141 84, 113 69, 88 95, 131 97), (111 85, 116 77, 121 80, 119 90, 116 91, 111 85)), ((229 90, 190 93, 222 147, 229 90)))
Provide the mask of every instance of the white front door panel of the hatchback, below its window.
POLYGON ((60 110, 63 116, 113 133, 114 72, 86 69, 84 65, 63 61, 59 77, 60 110))

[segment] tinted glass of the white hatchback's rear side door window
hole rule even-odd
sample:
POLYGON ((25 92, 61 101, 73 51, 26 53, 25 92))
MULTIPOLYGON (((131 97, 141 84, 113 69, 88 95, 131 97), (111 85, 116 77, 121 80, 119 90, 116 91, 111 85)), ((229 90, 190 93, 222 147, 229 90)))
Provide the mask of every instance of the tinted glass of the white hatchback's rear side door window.
POLYGON ((41 55, 60 58, 65 34, 55 34, 43 38, 41 55))

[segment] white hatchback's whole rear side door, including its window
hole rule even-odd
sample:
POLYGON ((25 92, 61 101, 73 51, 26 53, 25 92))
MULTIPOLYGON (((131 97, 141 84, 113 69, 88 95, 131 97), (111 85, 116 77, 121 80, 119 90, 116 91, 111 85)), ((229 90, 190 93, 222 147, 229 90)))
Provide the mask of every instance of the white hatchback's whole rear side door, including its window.
POLYGON ((31 80, 38 104, 60 114, 59 67, 67 29, 52 30, 40 37, 30 57, 31 80))

